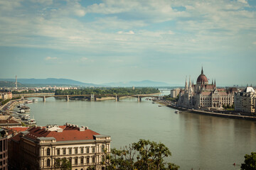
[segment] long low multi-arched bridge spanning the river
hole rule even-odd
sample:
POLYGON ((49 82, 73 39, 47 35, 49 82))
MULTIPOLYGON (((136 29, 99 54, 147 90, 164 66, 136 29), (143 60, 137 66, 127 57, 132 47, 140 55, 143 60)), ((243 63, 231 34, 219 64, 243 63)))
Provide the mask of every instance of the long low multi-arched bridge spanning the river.
POLYGON ((138 98, 138 101, 142 101, 142 98, 144 97, 150 97, 150 98, 157 98, 159 96, 153 95, 153 94, 135 94, 135 95, 124 95, 124 94, 72 94, 72 95, 55 95, 54 93, 41 93, 41 94, 13 94, 13 96, 16 97, 23 97, 23 98, 31 98, 31 97, 37 97, 37 98, 43 98, 43 101, 46 101, 46 98, 49 97, 62 97, 66 98, 67 101, 71 97, 80 97, 83 96, 85 98, 90 98, 90 101, 96 101, 96 98, 104 98, 104 97, 114 97, 115 101, 119 101, 119 98, 121 97, 134 97, 138 98))

